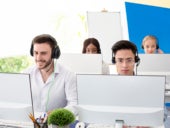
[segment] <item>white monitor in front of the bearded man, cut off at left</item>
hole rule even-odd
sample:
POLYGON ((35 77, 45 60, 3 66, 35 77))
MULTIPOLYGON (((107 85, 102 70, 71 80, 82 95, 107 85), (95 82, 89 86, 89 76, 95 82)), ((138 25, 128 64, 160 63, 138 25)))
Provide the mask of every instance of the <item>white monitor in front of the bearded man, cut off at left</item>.
POLYGON ((0 73, 0 122, 10 120, 31 123, 28 116, 30 113, 34 114, 30 76, 0 73))

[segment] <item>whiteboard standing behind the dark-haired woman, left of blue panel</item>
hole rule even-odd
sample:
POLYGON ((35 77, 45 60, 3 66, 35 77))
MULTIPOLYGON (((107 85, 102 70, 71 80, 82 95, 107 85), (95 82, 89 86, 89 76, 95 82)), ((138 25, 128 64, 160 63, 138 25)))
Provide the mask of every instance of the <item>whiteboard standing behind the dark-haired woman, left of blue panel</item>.
POLYGON ((98 39, 103 60, 111 63, 112 45, 122 39, 120 12, 87 12, 88 36, 98 39))

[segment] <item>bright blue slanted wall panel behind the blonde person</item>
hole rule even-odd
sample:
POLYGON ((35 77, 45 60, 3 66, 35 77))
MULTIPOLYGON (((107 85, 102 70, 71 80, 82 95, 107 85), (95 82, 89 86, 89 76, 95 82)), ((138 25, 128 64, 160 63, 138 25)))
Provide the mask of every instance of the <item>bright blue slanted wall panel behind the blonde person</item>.
POLYGON ((129 39, 137 45, 139 53, 144 53, 141 43, 148 34, 157 36, 159 47, 170 53, 170 9, 129 2, 125 6, 129 39))

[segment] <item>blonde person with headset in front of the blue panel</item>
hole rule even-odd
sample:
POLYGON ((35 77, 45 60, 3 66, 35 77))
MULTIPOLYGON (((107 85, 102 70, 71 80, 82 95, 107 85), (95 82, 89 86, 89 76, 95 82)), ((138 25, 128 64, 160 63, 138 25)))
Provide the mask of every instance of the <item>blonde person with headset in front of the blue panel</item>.
POLYGON ((159 48, 158 39, 153 35, 147 35, 143 38, 142 49, 146 54, 163 54, 163 51, 159 48))

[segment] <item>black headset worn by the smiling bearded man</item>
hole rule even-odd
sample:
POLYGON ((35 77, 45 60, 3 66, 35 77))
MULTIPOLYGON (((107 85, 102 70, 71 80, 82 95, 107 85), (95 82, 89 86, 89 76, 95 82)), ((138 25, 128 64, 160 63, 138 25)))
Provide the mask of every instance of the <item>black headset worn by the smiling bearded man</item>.
MULTIPOLYGON (((57 41, 50 35, 48 35, 48 38, 50 39, 50 42, 53 43, 51 58, 58 59, 60 57, 61 52, 59 46, 57 45, 57 41)), ((34 50, 34 41, 32 41, 31 43, 31 48, 30 48, 31 56, 34 56, 33 50, 34 50)))

